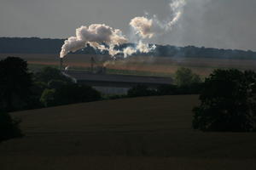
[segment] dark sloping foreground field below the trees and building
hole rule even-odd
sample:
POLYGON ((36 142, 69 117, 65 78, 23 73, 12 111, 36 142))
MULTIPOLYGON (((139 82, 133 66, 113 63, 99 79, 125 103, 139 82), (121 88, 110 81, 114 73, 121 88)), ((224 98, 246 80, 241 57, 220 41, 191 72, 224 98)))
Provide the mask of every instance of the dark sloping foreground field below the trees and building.
POLYGON ((256 133, 191 128, 198 96, 119 99, 20 111, 26 136, 0 169, 256 169, 256 133))

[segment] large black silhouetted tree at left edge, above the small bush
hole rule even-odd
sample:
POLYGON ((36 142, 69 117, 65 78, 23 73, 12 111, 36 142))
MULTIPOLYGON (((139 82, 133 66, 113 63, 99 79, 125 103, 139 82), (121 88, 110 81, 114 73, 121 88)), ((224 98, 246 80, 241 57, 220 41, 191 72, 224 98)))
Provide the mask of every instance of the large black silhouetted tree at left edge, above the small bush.
POLYGON ((7 57, 0 61, 0 102, 3 110, 14 111, 14 103, 22 103, 30 94, 32 75, 26 61, 7 57))

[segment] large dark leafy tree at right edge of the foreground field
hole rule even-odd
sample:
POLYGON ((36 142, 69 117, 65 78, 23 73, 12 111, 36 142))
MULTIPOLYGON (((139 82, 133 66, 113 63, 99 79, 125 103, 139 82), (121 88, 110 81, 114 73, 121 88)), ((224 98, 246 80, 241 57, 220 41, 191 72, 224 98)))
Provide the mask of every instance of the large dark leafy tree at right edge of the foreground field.
POLYGON ((255 82, 253 71, 213 71, 203 85, 201 105, 194 109, 193 127, 203 131, 254 131, 255 82))

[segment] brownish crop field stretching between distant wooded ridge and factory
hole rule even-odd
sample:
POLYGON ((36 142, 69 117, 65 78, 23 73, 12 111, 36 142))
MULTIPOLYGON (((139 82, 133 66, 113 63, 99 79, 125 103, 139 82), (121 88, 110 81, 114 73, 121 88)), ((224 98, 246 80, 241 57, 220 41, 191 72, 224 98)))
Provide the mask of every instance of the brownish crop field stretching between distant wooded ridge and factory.
MULTIPOLYGON (((32 71, 37 71, 45 65, 59 66, 57 54, 0 54, 0 59, 6 56, 17 56, 26 59, 32 71)), ((112 59, 109 56, 88 54, 68 54, 64 58, 64 65, 69 65, 70 69, 88 70, 91 57, 94 57, 97 65, 106 66, 108 73, 143 76, 172 76, 177 68, 183 66, 205 77, 217 68, 255 70, 256 65, 255 59, 183 59, 146 56, 112 59)))

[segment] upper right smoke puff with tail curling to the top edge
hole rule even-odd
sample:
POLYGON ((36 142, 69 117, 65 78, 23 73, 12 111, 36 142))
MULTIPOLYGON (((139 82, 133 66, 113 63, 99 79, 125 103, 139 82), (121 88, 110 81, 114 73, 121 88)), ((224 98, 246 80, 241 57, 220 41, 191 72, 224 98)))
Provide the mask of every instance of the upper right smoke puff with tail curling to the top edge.
POLYGON ((130 26, 141 38, 152 38, 157 36, 157 34, 172 31, 172 26, 177 23, 183 14, 183 7, 185 4, 185 0, 172 0, 169 4, 172 12, 172 20, 161 21, 157 19, 156 15, 151 19, 140 16, 133 18, 130 22, 130 26))

